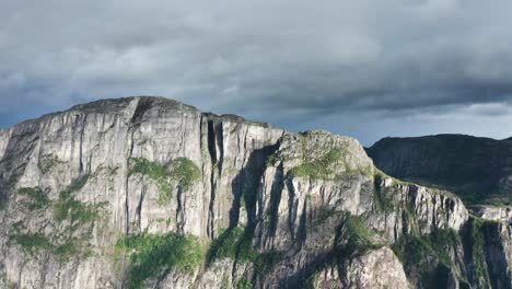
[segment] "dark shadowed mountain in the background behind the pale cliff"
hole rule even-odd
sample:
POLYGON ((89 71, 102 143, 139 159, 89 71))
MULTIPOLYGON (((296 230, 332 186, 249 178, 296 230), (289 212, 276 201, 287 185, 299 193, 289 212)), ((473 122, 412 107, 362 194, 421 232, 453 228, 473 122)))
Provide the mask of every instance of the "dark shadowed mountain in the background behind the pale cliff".
POLYGON ((468 204, 512 205, 512 140, 464 135, 384 138, 366 150, 385 173, 468 204))

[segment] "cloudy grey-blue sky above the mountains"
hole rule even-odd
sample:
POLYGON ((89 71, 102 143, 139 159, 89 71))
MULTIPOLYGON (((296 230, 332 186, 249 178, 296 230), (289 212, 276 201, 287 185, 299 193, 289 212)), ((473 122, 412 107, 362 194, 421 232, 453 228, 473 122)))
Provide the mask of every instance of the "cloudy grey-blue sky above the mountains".
POLYGON ((370 146, 512 136, 510 0, 2 0, 0 128, 162 95, 370 146))

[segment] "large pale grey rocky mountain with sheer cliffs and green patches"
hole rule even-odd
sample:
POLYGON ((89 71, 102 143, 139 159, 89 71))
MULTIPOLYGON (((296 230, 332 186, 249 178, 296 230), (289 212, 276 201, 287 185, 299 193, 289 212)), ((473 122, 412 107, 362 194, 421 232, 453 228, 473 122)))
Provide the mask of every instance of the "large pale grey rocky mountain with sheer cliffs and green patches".
POLYGON ((354 139, 163 97, 0 130, 1 288, 510 288, 507 210, 475 213, 354 139))

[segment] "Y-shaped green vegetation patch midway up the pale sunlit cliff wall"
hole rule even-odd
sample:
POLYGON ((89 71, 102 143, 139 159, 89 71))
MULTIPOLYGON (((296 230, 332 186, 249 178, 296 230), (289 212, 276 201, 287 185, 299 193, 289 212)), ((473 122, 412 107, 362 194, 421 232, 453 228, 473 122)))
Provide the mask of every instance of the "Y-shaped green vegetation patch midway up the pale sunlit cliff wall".
POLYGON ((160 201, 168 201, 172 197, 171 182, 176 182, 184 192, 190 189, 201 177, 199 167, 187 158, 177 158, 163 166, 146 159, 130 159, 132 166, 129 175, 142 174, 149 176, 160 188, 160 201))

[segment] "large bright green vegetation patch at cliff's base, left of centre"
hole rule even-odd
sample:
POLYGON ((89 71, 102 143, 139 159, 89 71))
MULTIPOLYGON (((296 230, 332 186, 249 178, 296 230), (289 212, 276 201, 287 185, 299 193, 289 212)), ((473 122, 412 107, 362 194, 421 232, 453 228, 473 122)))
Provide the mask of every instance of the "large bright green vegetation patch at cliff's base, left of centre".
POLYGON ((143 288, 146 280, 171 268, 191 274, 205 259, 205 248, 197 238, 174 233, 120 239, 115 254, 116 258, 129 255, 127 288, 143 288))

